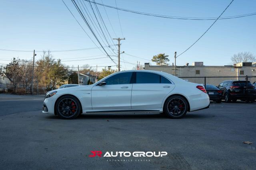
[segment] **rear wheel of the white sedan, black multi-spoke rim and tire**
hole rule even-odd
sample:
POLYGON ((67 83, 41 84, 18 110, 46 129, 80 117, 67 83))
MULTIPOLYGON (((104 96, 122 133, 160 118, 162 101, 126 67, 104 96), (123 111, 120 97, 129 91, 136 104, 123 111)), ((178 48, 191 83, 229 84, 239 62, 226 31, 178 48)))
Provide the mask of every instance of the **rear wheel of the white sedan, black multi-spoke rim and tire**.
POLYGON ((179 119, 186 115, 188 102, 181 96, 172 96, 164 103, 164 113, 173 119, 179 119))

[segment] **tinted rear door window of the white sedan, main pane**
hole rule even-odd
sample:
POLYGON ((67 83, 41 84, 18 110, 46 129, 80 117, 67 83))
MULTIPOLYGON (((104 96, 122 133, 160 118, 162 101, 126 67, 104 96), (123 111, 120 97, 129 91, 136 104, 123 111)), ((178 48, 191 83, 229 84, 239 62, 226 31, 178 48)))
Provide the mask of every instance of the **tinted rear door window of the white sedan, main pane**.
POLYGON ((151 72, 137 72, 136 83, 160 83, 160 75, 151 72))

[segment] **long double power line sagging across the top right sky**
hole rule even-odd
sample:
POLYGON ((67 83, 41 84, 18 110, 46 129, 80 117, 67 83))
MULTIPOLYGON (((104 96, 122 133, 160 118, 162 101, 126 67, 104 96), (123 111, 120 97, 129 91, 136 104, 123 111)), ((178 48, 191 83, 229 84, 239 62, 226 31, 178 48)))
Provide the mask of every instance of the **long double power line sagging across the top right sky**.
MULTIPOLYGON (((85 0, 85 1, 89 2, 90 0, 85 0)), ((154 16, 154 17, 160 17, 160 18, 169 18, 169 19, 177 19, 177 20, 216 20, 216 18, 212 18, 212 17, 180 17, 180 16, 167 16, 167 15, 160 15, 160 14, 152 14, 152 13, 139 12, 139 11, 134 11, 134 10, 127 10, 127 9, 124 9, 124 8, 118 8, 118 7, 114 7, 114 6, 100 4, 100 3, 97 3, 97 2, 92 2, 92 3, 98 4, 100 6, 108 7, 108 8, 113 8, 113 9, 116 9, 116 10, 125 11, 125 12, 131 12, 131 13, 135 13, 135 14, 146 15, 146 16, 154 16)), ((237 16, 226 16, 226 17, 219 18, 219 20, 242 18, 242 17, 247 17, 247 16, 253 16, 253 15, 256 15, 256 12, 250 13, 250 14, 237 15, 237 16)))

